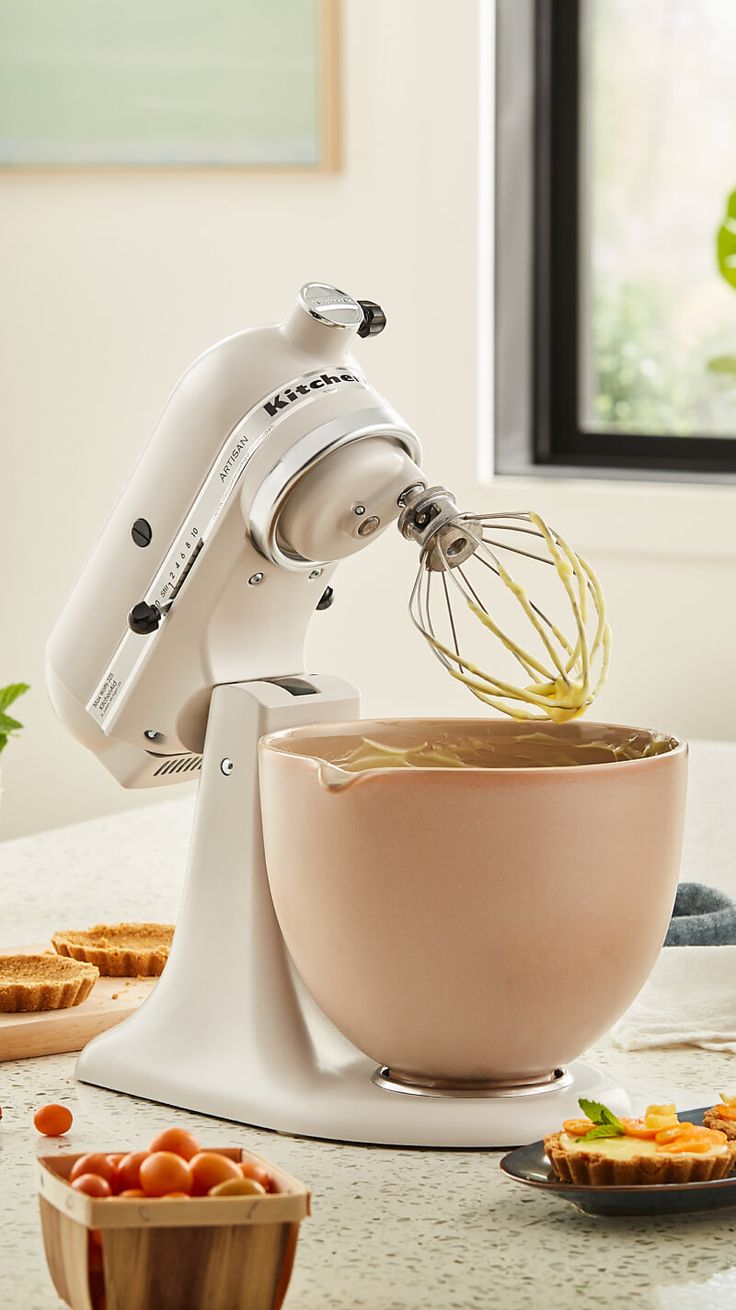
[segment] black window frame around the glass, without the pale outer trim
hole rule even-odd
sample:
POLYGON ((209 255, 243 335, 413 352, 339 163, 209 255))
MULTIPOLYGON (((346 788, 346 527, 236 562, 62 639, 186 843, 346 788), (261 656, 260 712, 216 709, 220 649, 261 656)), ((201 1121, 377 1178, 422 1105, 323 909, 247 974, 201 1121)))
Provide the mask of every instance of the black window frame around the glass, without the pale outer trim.
POLYGON ((736 472, 733 438, 583 430, 580 362, 581 0, 534 0, 532 458, 537 466, 736 472))

